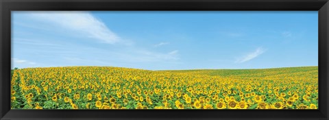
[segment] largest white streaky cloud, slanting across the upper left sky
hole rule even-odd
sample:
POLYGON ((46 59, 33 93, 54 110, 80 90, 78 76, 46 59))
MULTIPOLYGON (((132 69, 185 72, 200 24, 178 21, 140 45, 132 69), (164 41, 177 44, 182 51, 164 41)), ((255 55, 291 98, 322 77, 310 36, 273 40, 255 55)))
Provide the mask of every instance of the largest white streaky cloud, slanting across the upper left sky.
POLYGON ((88 12, 32 12, 29 15, 38 21, 70 29, 73 31, 70 34, 79 34, 110 44, 120 41, 117 34, 88 12))

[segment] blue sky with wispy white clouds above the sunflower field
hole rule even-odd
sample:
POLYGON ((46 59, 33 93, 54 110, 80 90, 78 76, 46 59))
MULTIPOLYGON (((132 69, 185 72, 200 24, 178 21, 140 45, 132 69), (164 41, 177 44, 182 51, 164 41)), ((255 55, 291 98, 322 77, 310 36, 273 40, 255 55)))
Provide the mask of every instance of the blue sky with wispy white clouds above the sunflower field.
POLYGON ((308 12, 12 12, 12 68, 318 65, 308 12))

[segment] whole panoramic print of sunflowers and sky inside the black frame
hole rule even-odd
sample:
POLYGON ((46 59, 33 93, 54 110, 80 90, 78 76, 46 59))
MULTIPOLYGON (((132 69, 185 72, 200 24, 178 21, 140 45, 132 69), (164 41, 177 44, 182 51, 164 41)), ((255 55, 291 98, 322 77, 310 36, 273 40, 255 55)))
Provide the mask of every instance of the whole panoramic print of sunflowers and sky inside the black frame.
POLYGON ((11 109, 318 109, 317 11, 14 11, 11 109))

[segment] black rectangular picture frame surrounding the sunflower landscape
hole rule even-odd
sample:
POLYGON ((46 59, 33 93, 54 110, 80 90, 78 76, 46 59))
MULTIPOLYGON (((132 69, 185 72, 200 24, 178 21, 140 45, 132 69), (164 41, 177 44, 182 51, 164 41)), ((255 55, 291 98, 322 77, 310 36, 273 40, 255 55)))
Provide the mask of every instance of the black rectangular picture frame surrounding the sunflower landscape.
POLYGON ((329 118, 328 0, 1 0, 0 119, 317 119, 329 118), (11 12, 29 10, 316 10, 318 110, 10 110, 11 12))

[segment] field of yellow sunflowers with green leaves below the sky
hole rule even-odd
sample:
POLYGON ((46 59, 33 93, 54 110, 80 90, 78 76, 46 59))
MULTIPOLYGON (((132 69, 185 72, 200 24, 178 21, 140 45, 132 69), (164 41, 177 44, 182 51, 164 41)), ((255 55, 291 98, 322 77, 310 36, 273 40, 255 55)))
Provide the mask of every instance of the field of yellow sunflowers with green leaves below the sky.
POLYGON ((317 109, 318 67, 12 70, 12 109, 317 109))

